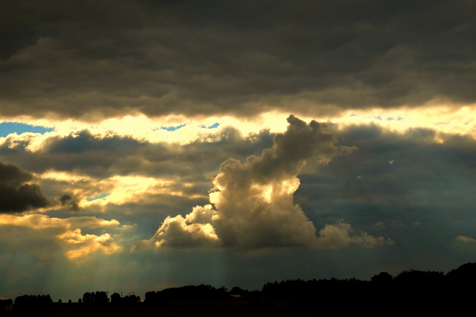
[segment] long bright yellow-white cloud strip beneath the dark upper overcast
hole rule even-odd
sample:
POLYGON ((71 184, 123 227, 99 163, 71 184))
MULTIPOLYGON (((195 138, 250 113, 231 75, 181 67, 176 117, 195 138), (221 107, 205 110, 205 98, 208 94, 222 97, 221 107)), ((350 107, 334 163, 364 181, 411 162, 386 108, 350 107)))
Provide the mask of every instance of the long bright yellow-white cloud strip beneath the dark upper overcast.
MULTIPOLYGON (((385 129, 405 133, 410 128, 429 128, 437 132, 449 134, 468 134, 476 138, 476 106, 453 105, 432 101, 419 107, 399 106, 393 108, 365 108, 346 109, 326 115, 309 115, 299 111, 269 111, 253 117, 235 116, 185 116, 168 115, 150 118, 145 115, 126 115, 118 118, 109 118, 99 122, 46 120, 34 118, 2 118, 0 121, 15 121, 32 125, 55 127, 55 131, 44 134, 25 132, 15 133, 10 147, 21 142, 28 142, 27 149, 31 152, 40 151, 45 142, 52 137, 66 137, 82 130, 88 130, 98 138, 114 136, 131 137, 150 143, 188 144, 197 140, 214 142, 227 127, 234 127, 247 136, 262 129, 269 129, 271 133, 281 133, 286 130, 286 117, 294 113, 305 121, 316 120, 329 122, 342 129, 351 124, 375 124, 385 129), (219 124, 216 128, 207 127, 219 124), (175 130, 168 131, 166 128, 175 130)), ((0 145, 6 137, 0 138, 0 145)))

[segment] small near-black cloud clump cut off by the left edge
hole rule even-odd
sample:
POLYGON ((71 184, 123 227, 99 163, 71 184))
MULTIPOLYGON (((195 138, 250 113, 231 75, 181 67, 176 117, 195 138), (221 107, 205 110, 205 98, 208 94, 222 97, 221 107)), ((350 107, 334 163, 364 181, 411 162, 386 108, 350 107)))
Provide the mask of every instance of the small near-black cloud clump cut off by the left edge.
POLYGON ((27 211, 49 205, 40 187, 24 184, 33 176, 13 164, 0 162, 0 213, 27 211))

